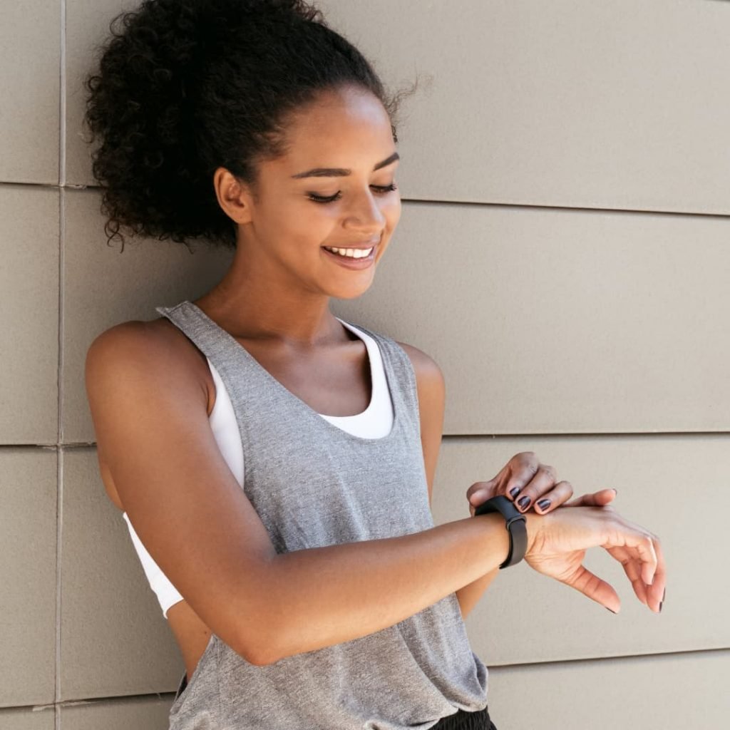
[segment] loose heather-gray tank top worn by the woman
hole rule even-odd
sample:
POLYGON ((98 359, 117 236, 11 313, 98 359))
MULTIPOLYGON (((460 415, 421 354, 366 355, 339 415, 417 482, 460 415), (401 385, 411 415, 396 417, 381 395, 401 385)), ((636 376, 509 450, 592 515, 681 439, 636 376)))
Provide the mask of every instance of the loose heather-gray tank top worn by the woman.
MULTIPOLYGON (((434 526, 415 373, 395 340, 356 325, 380 347, 393 403, 391 432, 364 438, 322 418, 191 301, 155 309, 218 369, 241 435, 243 488, 277 553, 434 526)), ((266 666, 211 634, 169 730, 426 730, 483 710, 487 688, 450 593, 381 631, 266 666)))

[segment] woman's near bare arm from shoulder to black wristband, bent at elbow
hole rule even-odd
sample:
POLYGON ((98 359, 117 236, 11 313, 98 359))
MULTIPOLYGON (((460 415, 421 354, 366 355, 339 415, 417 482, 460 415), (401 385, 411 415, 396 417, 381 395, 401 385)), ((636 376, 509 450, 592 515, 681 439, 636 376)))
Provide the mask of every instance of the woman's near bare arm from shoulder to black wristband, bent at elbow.
MULTIPOLYGON (((99 335, 85 377, 97 447, 139 539, 201 621, 252 664, 385 629, 507 556, 499 514, 279 554, 218 449, 204 386, 145 323, 99 335)), ((542 518, 525 516, 530 537, 542 518)))

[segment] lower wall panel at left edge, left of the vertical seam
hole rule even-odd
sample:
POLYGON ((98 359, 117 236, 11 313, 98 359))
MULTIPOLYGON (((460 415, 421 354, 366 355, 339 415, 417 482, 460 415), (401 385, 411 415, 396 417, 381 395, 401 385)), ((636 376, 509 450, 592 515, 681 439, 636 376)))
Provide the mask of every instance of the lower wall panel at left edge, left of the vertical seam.
POLYGON ((55 449, 0 448, 0 707, 55 697, 57 473, 55 449))

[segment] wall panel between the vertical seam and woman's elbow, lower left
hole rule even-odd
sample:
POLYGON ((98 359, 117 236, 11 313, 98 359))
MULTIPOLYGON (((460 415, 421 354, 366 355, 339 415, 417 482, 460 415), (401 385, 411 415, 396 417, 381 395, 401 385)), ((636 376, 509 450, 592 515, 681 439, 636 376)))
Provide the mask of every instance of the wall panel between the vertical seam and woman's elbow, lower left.
POLYGON ((104 491, 96 449, 63 458, 61 699, 174 692, 183 658, 104 491))

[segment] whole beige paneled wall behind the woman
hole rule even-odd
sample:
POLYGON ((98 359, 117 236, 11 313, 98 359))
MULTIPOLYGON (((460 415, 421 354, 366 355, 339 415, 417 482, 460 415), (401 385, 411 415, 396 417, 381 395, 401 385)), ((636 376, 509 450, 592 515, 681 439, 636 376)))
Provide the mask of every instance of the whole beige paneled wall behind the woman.
MULTIPOLYGON (((107 247, 80 78, 136 2, 0 3, 0 730, 161 730, 183 662, 99 480, 83 358, 229 261, 107 247), (90 186, 90 187, 87 187, 90 186)), ((730 712, 730 3, 328 0, 392 85, 403 215, 333 310, 447 380, 437 523, 534 450, 662 539, 664 610, 502 572, 467 618, 499 730, 724 728, 730 712), (393 312, 397 312, 393 316, 393 312)))

